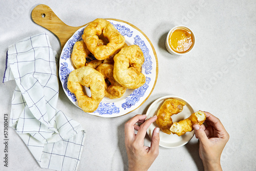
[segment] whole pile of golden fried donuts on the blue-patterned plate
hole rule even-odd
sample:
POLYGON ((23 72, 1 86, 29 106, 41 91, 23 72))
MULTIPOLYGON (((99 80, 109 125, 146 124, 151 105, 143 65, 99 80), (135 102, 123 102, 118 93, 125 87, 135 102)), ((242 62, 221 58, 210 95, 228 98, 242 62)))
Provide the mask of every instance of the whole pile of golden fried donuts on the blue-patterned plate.
POLYGON ((73 47, 74 67, 68 77, 68 89, 75 94, 84 112, 97 110, 103 97, 120 98, 126 89, 137 89, 145 83, 141 73, 144 55, 139 46, 127 46, 125 38, 108 21, 95 19, 84 28, 81 41, 73 47), (96 59, 87 62, 87 57, 96 59), (91 97, 82 87, 89 87, 91 97))

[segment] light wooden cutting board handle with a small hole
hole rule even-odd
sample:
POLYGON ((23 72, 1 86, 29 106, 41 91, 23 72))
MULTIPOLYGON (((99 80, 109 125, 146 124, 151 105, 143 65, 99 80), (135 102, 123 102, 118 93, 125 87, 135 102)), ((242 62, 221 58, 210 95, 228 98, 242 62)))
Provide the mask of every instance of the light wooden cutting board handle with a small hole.
MULTIPOLYGON (((50 7, 44 4, 36 6, 31 13, 34 22, 51 32, 53 32, 60 41, 61 49, 68 39, 81 27, 72 27, 63 23, 50 7)), ((85 25, 84 25, 85 26, 85 25)))

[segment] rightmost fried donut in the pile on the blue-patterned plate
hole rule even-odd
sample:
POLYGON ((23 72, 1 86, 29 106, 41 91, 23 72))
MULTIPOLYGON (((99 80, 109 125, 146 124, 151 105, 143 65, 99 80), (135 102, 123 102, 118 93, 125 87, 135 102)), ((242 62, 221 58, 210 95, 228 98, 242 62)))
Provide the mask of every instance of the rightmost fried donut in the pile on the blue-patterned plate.
POLYGON ((114 78, 127 89, 137 89, 145 83, 140 72, 144 55, 138 45, 126 46, 114 56, 114 78))

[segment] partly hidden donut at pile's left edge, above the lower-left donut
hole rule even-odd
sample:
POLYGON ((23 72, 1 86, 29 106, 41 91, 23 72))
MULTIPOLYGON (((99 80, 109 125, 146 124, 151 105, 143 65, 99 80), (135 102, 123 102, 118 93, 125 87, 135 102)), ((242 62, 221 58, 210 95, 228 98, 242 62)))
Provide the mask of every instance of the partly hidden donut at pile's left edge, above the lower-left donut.
POLYGON ((91 52, 87 49, 86 44, 83 40, 75 42, 73 52, 71 54, 71 60, 75 68, 81 68, 86 65, 86 57, 91 52))

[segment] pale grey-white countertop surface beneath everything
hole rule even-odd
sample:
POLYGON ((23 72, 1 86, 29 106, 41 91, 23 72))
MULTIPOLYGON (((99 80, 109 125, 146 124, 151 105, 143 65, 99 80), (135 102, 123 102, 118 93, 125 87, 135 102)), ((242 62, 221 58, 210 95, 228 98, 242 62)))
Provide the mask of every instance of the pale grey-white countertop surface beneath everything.
MULTIPOLYGON (((86 131, 78 170, 127 170, 124 123, 145 114, 156 99, 176 95, 196 110, 208 111, 224 124, 230 139, 221 157, 223 170, 256 167, 256 2, 255 1, 3 1, 0 3, 0 77, 6 51, 16 41, 46 32, 61 53, 57 37, 35 24, 31 11, 48 5, 69 26, 96 18, 116 18, 138 27, 152 42, 158 57, 158 79, 151 96, 135 111, 116 118, 84 113, 60 87, 57 108, 80 122, 86 131), (165 38, 170 28, 185 25, 196 35, 196 46, 184 56, 170 55, 165 38)), ((0 158, 4 161, 4 114, 10 115, 14 81, 1 83, 0 158)), ((45 170, 39 167, 22 139, 9 127, 9 163, 0 170, 45 170)), ((146 135, 145 145, 150 145, 146 135)), ((178 148, 159 147, 150 170, 203 170, 198 140, 178 148)))

